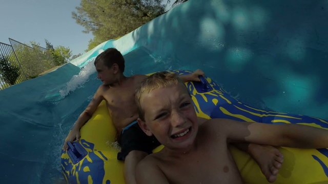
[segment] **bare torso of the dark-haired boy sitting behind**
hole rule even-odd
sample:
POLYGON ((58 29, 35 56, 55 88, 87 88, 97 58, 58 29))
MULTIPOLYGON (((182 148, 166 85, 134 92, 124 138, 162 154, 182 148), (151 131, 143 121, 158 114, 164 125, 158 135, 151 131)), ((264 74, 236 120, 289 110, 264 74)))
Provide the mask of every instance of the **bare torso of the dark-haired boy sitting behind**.
POLYGON ((145 79, 144 75, 126 78, 116 86, 102 85, 101 96, 106 100, 107 108, 118 133, 138 118, 135 104, 135 89, 145 79))

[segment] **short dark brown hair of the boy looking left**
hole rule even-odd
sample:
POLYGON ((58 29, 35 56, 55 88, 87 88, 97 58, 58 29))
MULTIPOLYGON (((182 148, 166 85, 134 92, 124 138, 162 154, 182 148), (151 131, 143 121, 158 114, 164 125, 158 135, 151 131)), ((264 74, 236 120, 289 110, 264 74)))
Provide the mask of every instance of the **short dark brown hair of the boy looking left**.
POLYGON ((108 68, 112 67, 114 63, 118 65, 121 73, 124 72, 125 60, 122 54, 115 48, 108 48, 104 52, 100 53, 94 60, 94 65, 98 62, 103 62, 108 68))

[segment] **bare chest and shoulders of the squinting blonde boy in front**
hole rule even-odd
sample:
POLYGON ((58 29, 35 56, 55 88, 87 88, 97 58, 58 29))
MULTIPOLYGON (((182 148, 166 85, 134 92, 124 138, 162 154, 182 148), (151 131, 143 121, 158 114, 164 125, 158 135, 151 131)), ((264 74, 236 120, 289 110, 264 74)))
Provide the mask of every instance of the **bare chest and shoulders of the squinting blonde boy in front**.
POLYGON ((169 183, 242 183, 226 137, 209 124, 199 126, 197 142, 189 153, 170 154, 163 148, 147 156, 146 163, 159 168, 169 183))

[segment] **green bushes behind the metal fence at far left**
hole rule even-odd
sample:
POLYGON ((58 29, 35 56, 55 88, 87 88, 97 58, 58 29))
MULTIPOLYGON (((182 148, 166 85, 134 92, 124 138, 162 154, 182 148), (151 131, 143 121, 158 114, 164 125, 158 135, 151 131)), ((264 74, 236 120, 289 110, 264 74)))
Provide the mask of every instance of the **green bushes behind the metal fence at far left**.
POLYGON ((46 41, 47 49, 31 41, 33 48, 17 42, 8 56, 0 55, 0 75, 4 82, 13 85, 16 80, 22 82, 37 77, 39 74, 62 65, 70 60, 72 51, 69 48, 53 45, 46 41), (15 64, 14 64, 15 63, 15 64))

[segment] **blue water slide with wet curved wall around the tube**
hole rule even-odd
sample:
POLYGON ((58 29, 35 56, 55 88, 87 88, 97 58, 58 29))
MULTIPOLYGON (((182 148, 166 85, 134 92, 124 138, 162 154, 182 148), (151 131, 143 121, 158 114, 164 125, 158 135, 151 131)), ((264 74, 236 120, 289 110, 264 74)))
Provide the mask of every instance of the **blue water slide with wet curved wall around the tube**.
POLYGON ((44 76, 0 91, 1 183, 60 183, 60 147, 115 47, 127 76, 201 68, 239 101, 328 119, 326 1, 189 0, 44 76))

